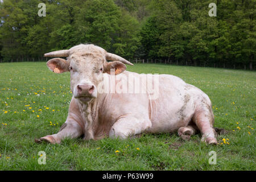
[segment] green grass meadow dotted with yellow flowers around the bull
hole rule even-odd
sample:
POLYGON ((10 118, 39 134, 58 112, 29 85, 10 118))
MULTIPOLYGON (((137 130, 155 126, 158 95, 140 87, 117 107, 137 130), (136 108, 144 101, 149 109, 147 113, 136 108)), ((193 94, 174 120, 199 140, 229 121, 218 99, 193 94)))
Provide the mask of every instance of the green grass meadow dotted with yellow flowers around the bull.
POLYGON ((230 130, 230 133, 219 136, 218 142, 228 138, 229 144, 208 146, 200 142, 200 135, 184 142, 177 134, 143 134, 141 138, 127 140, 106 138, 85 141, 67 138, 61 144, 37 144, 34 138, 57 133, 65 122, 72 97, 69 73, 52 73, 46 63, 2 63, 0 169, 256 169, 255 72, 164 64, 136 64, 127 70, 171 74, 199 87, 212 100, 214 126, 230 130), (50 122, 55 125, 50 125, 50 122), (120 152, 116 154, 117 150, 120 152), (46 165, 38 164, 39 151, 46 152, 46 165), (216 165, 208 163, 209 151, 216 151, 216 165))

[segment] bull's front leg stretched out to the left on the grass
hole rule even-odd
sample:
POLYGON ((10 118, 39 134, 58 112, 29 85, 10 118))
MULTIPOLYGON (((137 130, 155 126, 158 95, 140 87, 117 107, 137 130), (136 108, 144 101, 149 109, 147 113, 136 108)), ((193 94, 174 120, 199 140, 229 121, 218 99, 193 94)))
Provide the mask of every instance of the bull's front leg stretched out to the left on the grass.
POLYGON ((61 140, 66 137, 77 138, 82 134, 83 130, 81 125, 79 125, 79 122, 75 121, 75 119, 69 115, 57 134, 47 135, 46 137, 35 139, 35 142, 40 143, 42 141, 46 141, 55 144, 60 143, 61 140))

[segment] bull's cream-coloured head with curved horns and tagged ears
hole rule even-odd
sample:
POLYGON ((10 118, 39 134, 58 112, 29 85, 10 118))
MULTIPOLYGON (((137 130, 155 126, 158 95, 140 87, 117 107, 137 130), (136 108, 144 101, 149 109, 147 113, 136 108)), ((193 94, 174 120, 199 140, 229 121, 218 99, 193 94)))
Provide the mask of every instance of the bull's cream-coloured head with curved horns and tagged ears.
POLYGON ((71 90, 73 96, 81 102, 88 102, 97 97, 97 86, 104 79, 103 73, 110 69, 115 75, 126 69, 129 61, 93 44, 80 44, 68 50, 53 51, 44 54, 45 57, 67 57, 67 60, 54 58, 47 62, 48 68, 55 73, 71 73, 71 90), (107 62, 111 60, 113 62, 107 62), (123 64, 125 63, 125 64, 123 64))

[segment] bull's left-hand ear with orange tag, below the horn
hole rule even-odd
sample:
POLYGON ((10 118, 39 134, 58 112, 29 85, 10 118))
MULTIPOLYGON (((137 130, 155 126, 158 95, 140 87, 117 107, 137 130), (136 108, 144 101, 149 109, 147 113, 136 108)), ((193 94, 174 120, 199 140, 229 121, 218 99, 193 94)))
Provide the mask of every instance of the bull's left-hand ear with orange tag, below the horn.
POLYGON ((53 58, 47 61, 47 67, 54 73, 68 72, 69 64, 61 58, 53 58))

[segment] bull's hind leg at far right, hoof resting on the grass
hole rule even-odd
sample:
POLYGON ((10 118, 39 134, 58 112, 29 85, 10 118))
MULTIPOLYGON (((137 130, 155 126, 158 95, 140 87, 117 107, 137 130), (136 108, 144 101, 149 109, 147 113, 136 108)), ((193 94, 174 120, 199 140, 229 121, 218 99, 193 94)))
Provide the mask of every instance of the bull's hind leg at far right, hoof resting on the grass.
POLYGON ((214 117, 212 109, 207 106, 202 106, 200 109, 196 110, 192 119, 201 131, 201 140, 208 144, 217 144, 217 140, 215 138, 216 131, 213 128, 214 117))

